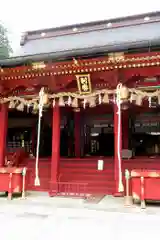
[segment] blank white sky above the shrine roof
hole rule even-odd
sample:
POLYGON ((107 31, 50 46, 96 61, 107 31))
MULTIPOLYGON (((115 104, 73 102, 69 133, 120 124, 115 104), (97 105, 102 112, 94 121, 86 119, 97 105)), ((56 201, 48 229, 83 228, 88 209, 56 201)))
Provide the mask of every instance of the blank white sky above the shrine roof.
POLYGON ((0 0, 13 49, 27 30, 160 11, 160 0, 0 0))

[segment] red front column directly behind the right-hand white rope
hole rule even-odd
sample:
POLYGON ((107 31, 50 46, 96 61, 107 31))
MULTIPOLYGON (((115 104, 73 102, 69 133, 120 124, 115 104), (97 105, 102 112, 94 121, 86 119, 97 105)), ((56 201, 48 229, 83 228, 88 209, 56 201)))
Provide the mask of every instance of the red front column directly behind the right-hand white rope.
MULTIPOLYGON (((118 161, 118 108, 114 104, 114 180, 115 180, 115 196, 119 193, 119 161, 118 161)), ((120 124, 121 125, 121 124, 120 124)), ((120 127, 120 156, 122 150, 122 127, 120 127)))

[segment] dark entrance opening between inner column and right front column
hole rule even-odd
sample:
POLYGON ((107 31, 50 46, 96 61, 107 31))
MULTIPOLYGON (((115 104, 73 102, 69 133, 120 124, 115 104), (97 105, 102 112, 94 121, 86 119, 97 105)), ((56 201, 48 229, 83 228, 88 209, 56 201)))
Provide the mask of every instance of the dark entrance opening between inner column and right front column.
POLYGON ((84 156, 114 156, 113 115, 110 105, 84 110, 84 156))

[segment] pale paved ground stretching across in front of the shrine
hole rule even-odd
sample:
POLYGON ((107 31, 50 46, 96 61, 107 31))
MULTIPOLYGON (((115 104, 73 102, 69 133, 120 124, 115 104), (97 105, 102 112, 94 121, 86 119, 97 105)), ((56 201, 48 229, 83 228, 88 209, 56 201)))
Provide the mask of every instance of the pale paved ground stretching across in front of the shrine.
POLYGON ((105 236, 108 240, 159 239, 160 214, 156 214, 159 210, 141 211, 139 207, 125 210, 122 199, 107 200, 106 209, 102 201, 94 210, 93 205, 85 206, 82 200, 74 199, 33 197, 10 202, 2 199, 1 239, 90 240, 105 236))

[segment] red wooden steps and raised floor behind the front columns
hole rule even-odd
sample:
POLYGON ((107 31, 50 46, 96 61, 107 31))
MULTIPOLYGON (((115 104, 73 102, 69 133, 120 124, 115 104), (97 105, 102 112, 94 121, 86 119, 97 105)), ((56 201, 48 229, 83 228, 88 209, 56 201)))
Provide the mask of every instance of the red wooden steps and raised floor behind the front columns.
MULTIPOLYGON (((64 159, 60 160, 59 182, 87 183, 87 192, 92 194, 110 194, 115 191, 114 159, 104 158, 104 170, 97 170, 96 158, 64 159)), ((28 168, 27 190, 49 191, 50 189, 50 159, 39 162, 40 187, 34 186, 35 160, 26 159, 23 165, 28 168)), ((123 181, 125 169, 159 169, 160 158, 139 157, 122 160, 123 181)))

